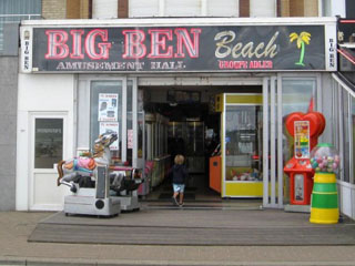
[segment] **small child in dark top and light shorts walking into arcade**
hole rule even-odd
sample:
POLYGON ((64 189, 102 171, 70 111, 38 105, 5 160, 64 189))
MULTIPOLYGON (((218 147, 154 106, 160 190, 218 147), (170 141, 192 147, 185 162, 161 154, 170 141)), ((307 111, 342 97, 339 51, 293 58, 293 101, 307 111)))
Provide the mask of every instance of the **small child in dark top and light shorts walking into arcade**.
POLYGON ((178 154, 174 158, 174 165, 171 168, 172 174, 172 182, 173 182, 173 203, 175 206, 183 206, 183 200, 184 200, 184 190, 185 190, 185 182, 187 181, 189 174, 184 163, 184 156, 181 154, 178 154), (180 193, 179 203, 178 203, 178 194, 180 193))

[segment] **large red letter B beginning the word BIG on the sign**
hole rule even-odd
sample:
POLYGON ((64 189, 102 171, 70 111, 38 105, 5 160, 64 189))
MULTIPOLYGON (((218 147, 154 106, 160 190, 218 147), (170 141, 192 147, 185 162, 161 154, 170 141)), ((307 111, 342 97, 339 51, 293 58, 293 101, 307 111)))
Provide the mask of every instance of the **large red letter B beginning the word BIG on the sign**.
POLYGON ((65 44, 68 33, 63 30, 47 30, 47 53, 45 59, 64 59, 69 54, 69 48, 65 44))

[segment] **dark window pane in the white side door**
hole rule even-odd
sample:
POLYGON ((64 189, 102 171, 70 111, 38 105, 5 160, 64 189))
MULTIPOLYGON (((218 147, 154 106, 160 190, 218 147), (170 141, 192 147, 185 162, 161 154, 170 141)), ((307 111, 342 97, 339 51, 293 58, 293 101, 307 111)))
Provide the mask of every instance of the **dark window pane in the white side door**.
POLYGON ((63 154, 63 119, 36 119, 34 168, 53 168, 63 154))

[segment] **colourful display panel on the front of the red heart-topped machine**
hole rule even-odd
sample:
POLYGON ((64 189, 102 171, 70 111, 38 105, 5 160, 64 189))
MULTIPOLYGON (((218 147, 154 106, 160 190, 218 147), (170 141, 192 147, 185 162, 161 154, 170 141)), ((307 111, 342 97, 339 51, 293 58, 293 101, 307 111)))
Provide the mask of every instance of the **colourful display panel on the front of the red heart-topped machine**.
POLYGON ((295 157, 310 158, 310 121, 295 121, 295 157))

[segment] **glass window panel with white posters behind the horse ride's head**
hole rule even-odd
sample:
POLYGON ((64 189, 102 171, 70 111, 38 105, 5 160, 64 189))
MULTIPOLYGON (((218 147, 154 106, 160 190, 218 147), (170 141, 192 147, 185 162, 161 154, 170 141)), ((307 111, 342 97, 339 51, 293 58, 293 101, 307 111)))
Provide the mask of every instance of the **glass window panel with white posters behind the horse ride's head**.
POLYGON ((112 158, 121 158, 122 142, 122 81, 92 81, 90 96, 90 144, 93 146, 99 134, 108 131, 118 133, 111 144, 112 158))

